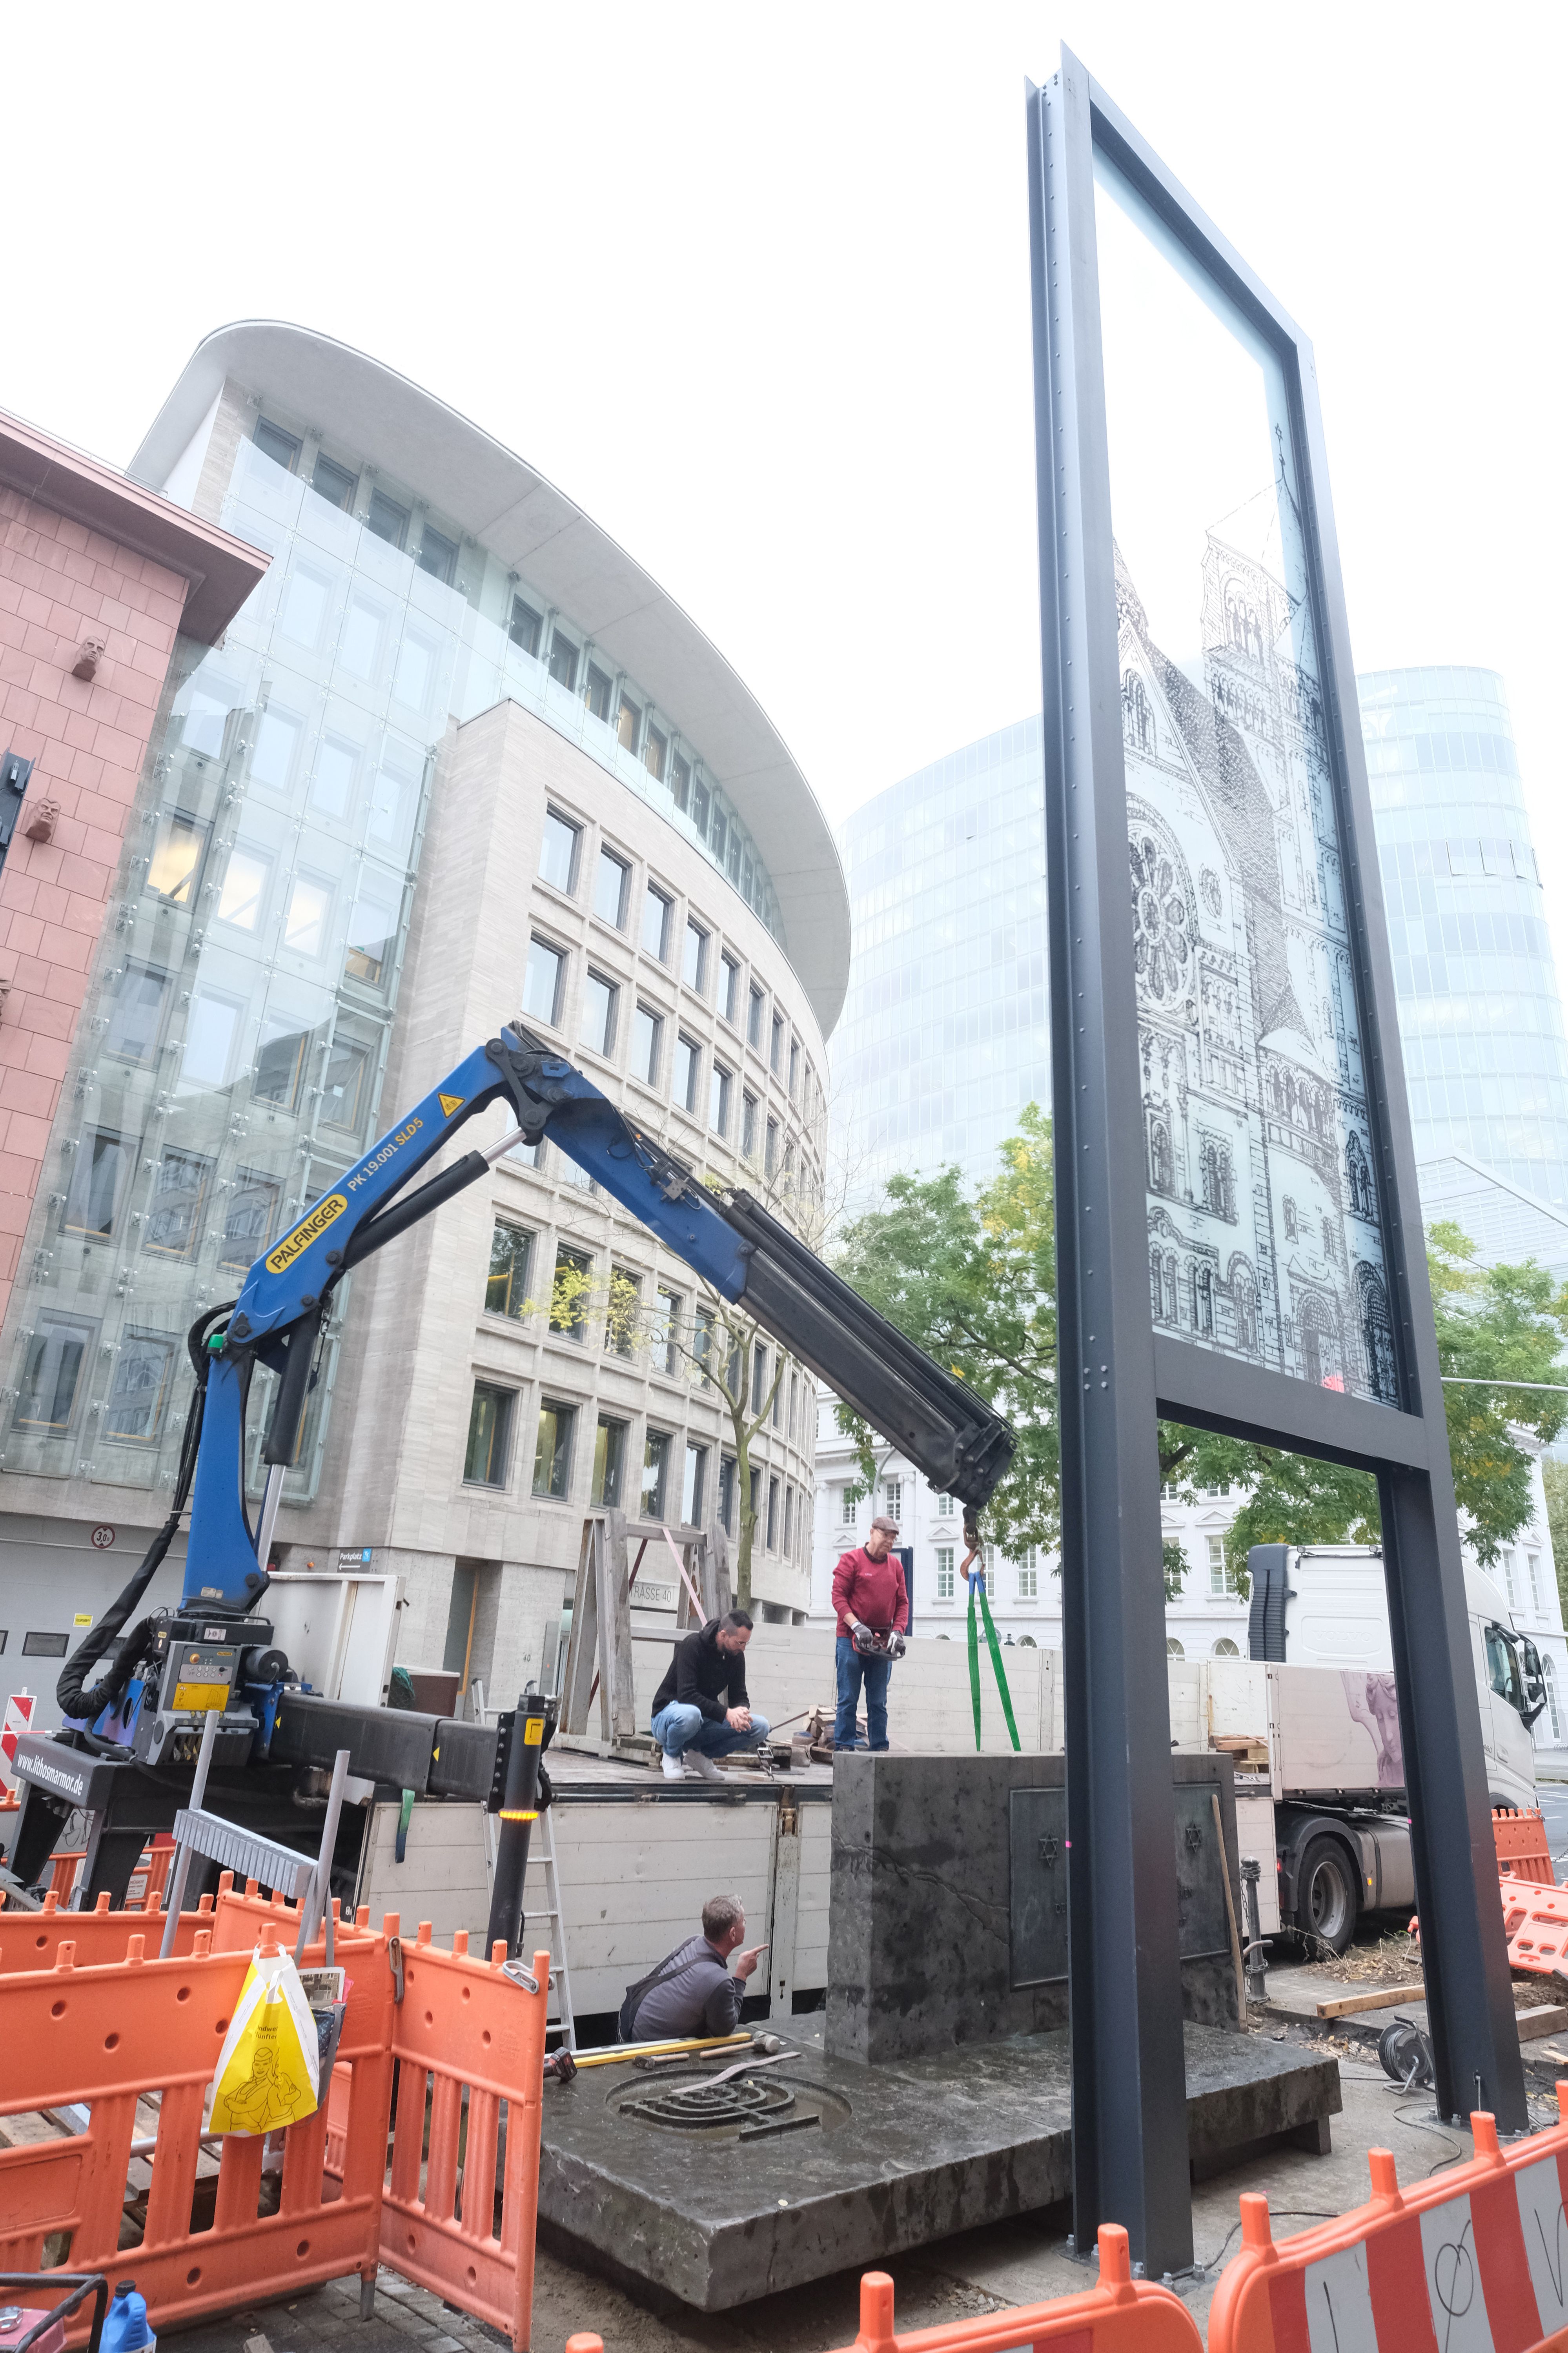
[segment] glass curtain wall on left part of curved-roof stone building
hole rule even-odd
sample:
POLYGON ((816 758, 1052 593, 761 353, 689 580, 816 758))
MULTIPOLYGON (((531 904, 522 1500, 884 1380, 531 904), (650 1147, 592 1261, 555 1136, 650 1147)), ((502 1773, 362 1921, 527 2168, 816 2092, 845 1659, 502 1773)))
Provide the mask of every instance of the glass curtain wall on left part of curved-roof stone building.
POLYGON ((21 1268, 7 1471, 167 1487, 186 1329, 374 1134, 469 607, 254 440, 221 522, 273 565, 153 734, 21 1268))

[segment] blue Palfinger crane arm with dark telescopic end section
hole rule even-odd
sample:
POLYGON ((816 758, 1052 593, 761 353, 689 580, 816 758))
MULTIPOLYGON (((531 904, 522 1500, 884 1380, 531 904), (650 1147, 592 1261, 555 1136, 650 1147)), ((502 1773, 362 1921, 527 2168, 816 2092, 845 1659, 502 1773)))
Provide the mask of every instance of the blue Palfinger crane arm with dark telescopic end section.
POLYGON ((245 1278, 207 1348, 207 1400, 191 1497, 184 1600, 254 1607, 266 1588, 245 1513, 245 1407, 257 1365, 278 1374, 261 1459, 297 1457, 320 1325, 334 1287, 384 1242, 485 1174, 516 1136, 405 1186, 480 1111, 504 1101, 523 1141, 546 1134, 720 1299, 829 1381, 925 1475, 977 1511, 1012 1454, 1012 1431, 742 1191, 716 1193, 645 1136, 591 1078, 523 1024, 476 1047, 323 1193, 245 1278))

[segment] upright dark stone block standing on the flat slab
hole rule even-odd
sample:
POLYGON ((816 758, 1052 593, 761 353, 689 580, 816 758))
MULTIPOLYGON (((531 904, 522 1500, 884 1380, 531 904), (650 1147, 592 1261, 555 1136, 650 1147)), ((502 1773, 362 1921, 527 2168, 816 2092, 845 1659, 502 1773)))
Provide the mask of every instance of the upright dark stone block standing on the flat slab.
MULTIPOLYGON (((1170 1777, 1182 2017, 1238 2026, 1231 1760, 1172 1755, 1170 1777)), ((826 2047, 881 2066, 1055 2026, 1067 2026, 1064 1760, 836 1758, 826 2047)))

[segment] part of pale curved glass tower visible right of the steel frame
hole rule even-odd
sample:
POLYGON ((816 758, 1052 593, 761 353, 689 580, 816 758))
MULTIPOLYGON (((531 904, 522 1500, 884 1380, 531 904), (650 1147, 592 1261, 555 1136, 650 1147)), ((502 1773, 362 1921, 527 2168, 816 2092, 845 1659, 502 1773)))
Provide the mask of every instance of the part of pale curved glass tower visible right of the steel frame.
POLYGON ((1568 1212, 1563 1007, 1502 680, 1368 671, 1356 689, 1427 1214, 1453 1153, 1568 1212))

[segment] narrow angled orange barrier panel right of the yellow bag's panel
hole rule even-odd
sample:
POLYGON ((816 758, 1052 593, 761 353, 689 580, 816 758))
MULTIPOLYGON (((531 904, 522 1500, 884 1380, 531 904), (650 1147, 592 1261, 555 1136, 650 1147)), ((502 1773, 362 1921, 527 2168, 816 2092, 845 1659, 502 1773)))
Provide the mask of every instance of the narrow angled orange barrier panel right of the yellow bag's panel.
MULTIPOLYGON (((388 1915, 386 1932, 396 1929, 396 1915, 388 1915)), ((478 2320, 487 2320, 511 2337, 518 2353, 527 2353, 551 1955, 534 1953, 537 1993, 506 1977, 504 1962, 504 1944, 497 1944, 485 1962, 469 1953, 461 1932, 452 1939, 452 1951, 443 1953, 431 1944, 428 1920, 419 1922, 417 1944, 403 1948, 405 1993, 393 2012, 393 2052, 400 2064, 398 2118, 381 2219, 381 2259, 478 2320), (499 2155, 501 2106, 504 2155, 499 2155), (426 2158, 424 2193, 421 2158, 426 2158), (459 2162, 461 2217, 457 2214, 459 2162)))

